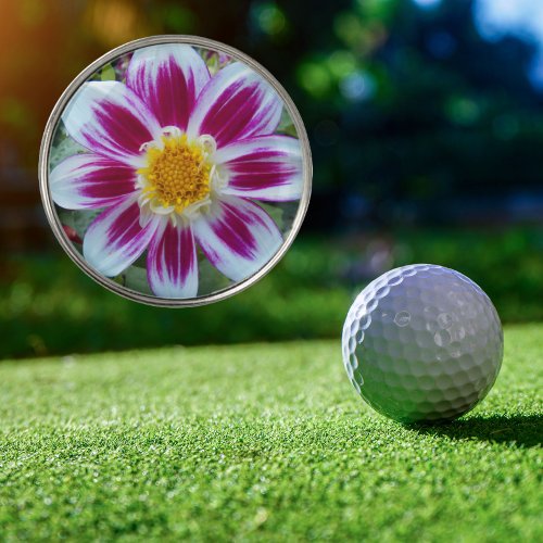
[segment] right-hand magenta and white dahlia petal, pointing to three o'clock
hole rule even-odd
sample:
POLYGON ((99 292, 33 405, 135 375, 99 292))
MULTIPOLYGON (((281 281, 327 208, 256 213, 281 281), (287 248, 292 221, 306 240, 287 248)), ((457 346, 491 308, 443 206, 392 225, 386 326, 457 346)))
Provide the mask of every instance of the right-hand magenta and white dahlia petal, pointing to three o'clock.
POLYGON ((229 173, 226 194, 272 202, 302 194, 302 148, 290 136, 260 136, 219 149, 215 160, 229 173))

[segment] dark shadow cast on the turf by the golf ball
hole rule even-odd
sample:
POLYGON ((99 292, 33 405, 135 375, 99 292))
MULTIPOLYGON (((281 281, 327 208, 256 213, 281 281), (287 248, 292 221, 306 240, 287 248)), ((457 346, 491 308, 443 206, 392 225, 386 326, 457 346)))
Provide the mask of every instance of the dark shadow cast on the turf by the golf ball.
POLYGON ((543 415, 473 415, 447 425, 413 426, 426 434, 446 435, 452 440, 476 439, 517 446, 540 446, 543 439, 543 415))

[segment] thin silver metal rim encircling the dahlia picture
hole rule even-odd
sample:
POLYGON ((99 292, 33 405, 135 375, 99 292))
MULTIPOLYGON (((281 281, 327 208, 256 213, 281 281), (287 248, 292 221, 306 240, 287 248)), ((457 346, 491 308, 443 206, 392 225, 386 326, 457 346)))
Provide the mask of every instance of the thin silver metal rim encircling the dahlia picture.
POLYGON ((290 245, 294 241, 294 238, 296 237, 300 230, 300 227, 302 226, 305 213, 307 211, 307 205, 310 203, 311 184, 313 177, 313 165, 311 160, 311 150, 310 150, 310 142, 307 139, 307 132, 305 131, 305 127, 303 125, 302 118, 300 116, 296 106, 292 102, 287 91, 279 84, 279 81, 277 81, 277 79, 266 68, 261 66, 256 61, 254 61, 247 54, 242 53, 241 51, 232 47, 226 46, 224 43, 207 38, 201 38, 199 36, 177 36, 177 35, 151 36, 148 38, 141 38, 135 41, 130 41, 128 43, 125 43, 124 46, 111 50, 103 56, 97 59, 92 64, 87 66, 68 85, 66 90, 62 93, 61 98, 54 105, 51 115, 49 116, 43 132, 43 138, 41 140, 38 167, 39 167, 39 187, 40 187, 41 200, 43 203, 43 209, 46 211, 47 218, 53 230, 54 236, 59 240, 64 251, 75 262, 75 264, 77 264, 79 268, 81 268, 87 275, 92 277, 92 279, 94 279, 98 283, 111 290, 112 292, 115 292, 116 294, 119 294, 128 300, 134 300, 148 305, 155 305, 162 307, 191 307, 191 306, 218 302, 220 300, 225 300, 226 298, 232 296, 248 289, 256 281, 262 279, 266 274, 268 274, 268 272, 272 270, 272 268, 282 258, 285 253, 289 250, 290 245), (100 68, 108 62, 111 62, 115 58, 121 56, 123 54, 127 54, 142 47, 154 46, 159 43, 189 43, 197 47, 205 47, 214 51, 224 52, 251 66, 252 70, 254 70, 257 74, 264 77, 264 79, 266 79, 266 81, 276 90, 276 92, 282 99, 283 104, 287 108, 290 117, 292 118, 292 122, 296 129, 298 138, 300 140, 300 144, 302 147, 303 175, 304 175, 302 197, 300 199, 299 209, 294 217, 291 230, 283 240, 283 243, 280 247, 280 249, 263 268, 261 268, 258 272, 248 277, 247 279, 243 279, 242 281, 235 283, 226 289, 213 292, 207 295, 192 298, 192 299, 165 299, 165 298, 156 298, 148 294, 142 294, 140 292, 127 289, 126 287, 116 283, 112 279, 102 276, 96 269, 90 267, 84 260, 83 255, 80 255, 76 251, 72 242, 67 239, 66 235, 64 233, 49 188, 49 154, 50 154, 49 151, 54 136, 54 129, 60 121, 64 108, 72 99, 76 90, 98 68, 100 68))

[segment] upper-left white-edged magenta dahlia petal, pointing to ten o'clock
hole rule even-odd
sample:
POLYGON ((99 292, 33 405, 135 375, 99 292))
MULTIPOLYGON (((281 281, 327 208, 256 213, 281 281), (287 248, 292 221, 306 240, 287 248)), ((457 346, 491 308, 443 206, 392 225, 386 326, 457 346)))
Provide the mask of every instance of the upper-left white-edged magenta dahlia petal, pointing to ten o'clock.
POLYGON ((135 167, 140 148, 161 136, 161 126, 141 99, 119 81, 81 86, 62 114, 66 130, 90 151, 135 167))

